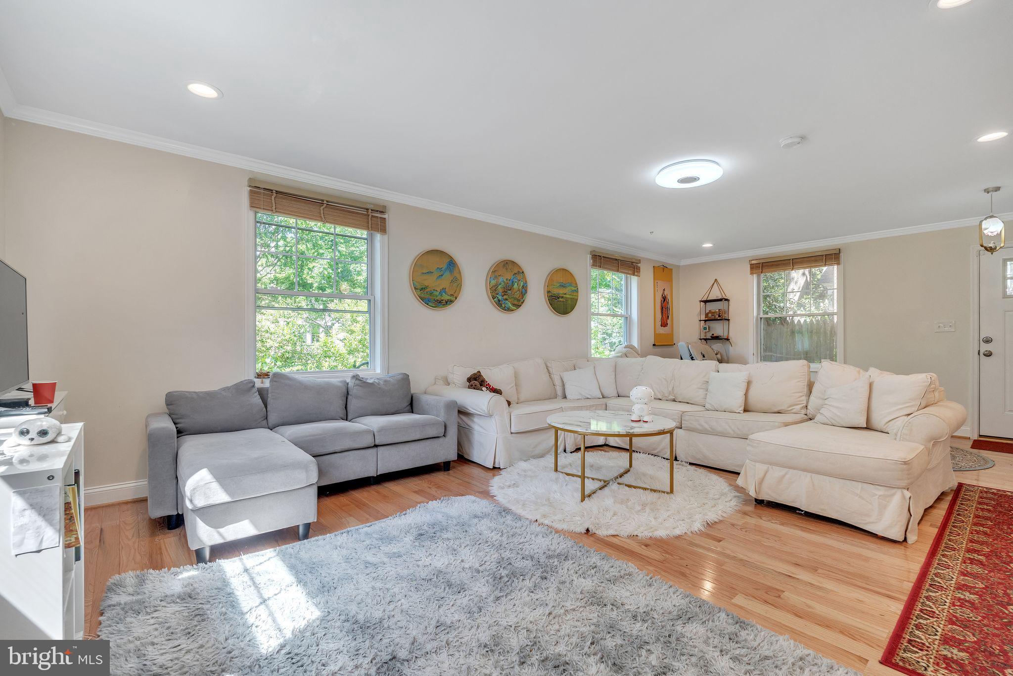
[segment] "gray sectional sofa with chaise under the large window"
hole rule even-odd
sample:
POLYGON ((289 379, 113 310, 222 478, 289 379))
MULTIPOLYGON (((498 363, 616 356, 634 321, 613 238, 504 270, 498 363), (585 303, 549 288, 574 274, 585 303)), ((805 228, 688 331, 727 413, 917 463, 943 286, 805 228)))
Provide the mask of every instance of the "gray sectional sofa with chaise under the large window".
POLYGON ((199 562, 211 545, 299 526, 317 486, 457 457, 457 402, 412 394, 408 376, 347 381, 277 373, 165 395, 147 418, 148 514, 186 525, 199 562))

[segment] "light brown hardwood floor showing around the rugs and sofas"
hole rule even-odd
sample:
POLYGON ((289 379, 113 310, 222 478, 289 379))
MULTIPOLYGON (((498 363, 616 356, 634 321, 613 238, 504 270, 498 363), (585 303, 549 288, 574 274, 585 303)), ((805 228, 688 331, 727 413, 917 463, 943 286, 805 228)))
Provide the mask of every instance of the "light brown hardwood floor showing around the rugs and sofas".
MULTIPOLYGON (((966 439, 952 441, 969 448, 966 439)), ((957 472, 957 480, 1013 490, 1013 454, 979 452, 995 460, 996 466, 957 472)), ((383 519, 446 496, 491 500, 488 482, 497 471, 457 460, 450 472, 434 465, 387 477, 376 485, 340 484, 321 492, 310 536, 383 519)), ((710 471, 734 485, 736 474, 710 471)), ((682 537, 566 535, 848 667, 867 674, 897 674, 878 663, 879 656, 950 496, 941 496, 925 513, 915 544, 782 507, 758 507, 752 500, 731 517, 682 537)), ((86 635, 97 631, 99 602, 111 576, 193 562, 183 529, 167 531, 161 521, 149 519, 143 500, 86 508, 84 522, 86 635)), ((238 556, 296 539, 296 529, 289 528, 213 547, 212 557, 238 556)))

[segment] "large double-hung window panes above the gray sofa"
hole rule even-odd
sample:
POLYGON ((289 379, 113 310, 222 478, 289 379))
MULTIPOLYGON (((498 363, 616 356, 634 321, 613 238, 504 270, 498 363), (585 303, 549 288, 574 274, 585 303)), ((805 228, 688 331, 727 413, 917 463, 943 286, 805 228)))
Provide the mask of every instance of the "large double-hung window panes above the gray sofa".
POLYGON ((375 237, 254 211, 256 370, 376 370, 375 237))

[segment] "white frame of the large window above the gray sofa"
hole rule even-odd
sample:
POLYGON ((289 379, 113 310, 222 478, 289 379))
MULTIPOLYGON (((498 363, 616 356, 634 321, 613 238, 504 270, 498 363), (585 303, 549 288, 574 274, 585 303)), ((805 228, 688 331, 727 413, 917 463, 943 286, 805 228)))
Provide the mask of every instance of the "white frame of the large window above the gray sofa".
MULTIPOLYGON (((267 212, 262 212, 267 213, 267 212)), ((264 293, 256 286, 256 211, 247 210, 245 228, 246 272, 246 368, 253 378, 256 374, 256 295, 264 293)), ((307 219, 302 219, 307 220, 307 219)), ((333 233, 330 233, 333 234, 333 233)), ((327 294, 319 292, 294 292, 272 290, 274 295, 314 296, 325 298, 367 299, 370 303, 370 368, 335 369, 331 371, 287 371, 307 378, 336 378, 347 380, 353 374, 383 375, 387 368, 387 238, 377 232, 366 233, 366 290, 367 295, 327 294)), ((298 257, 313 257, 299 256, 298 257)))

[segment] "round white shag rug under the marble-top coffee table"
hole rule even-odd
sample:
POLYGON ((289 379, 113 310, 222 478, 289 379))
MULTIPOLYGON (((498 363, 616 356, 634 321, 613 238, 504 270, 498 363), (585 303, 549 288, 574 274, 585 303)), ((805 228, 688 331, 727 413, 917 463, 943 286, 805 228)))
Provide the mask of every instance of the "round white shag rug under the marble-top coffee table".
MULTIPOLYGON (((589 451, 587 473, 612 476, 628 465, 624 451, 589 451)), ((580 454, 560 453, 559 468, 579 473, 580 454)), ((620 480, 656 489, 669 487, 669 460, 633 454, 633 469, 620 480)), ((602 481, 587 479, 586 491, 602 481)), ((503 469, 489 484, 508 509, 560 530, 638 537, 674 537, 703 530, 729 516, 743 504, 720 476, 684 462, 676 463, 674 496, 613 483, 580 502, 580 479, 552 471, 552 455, 503 469)))

